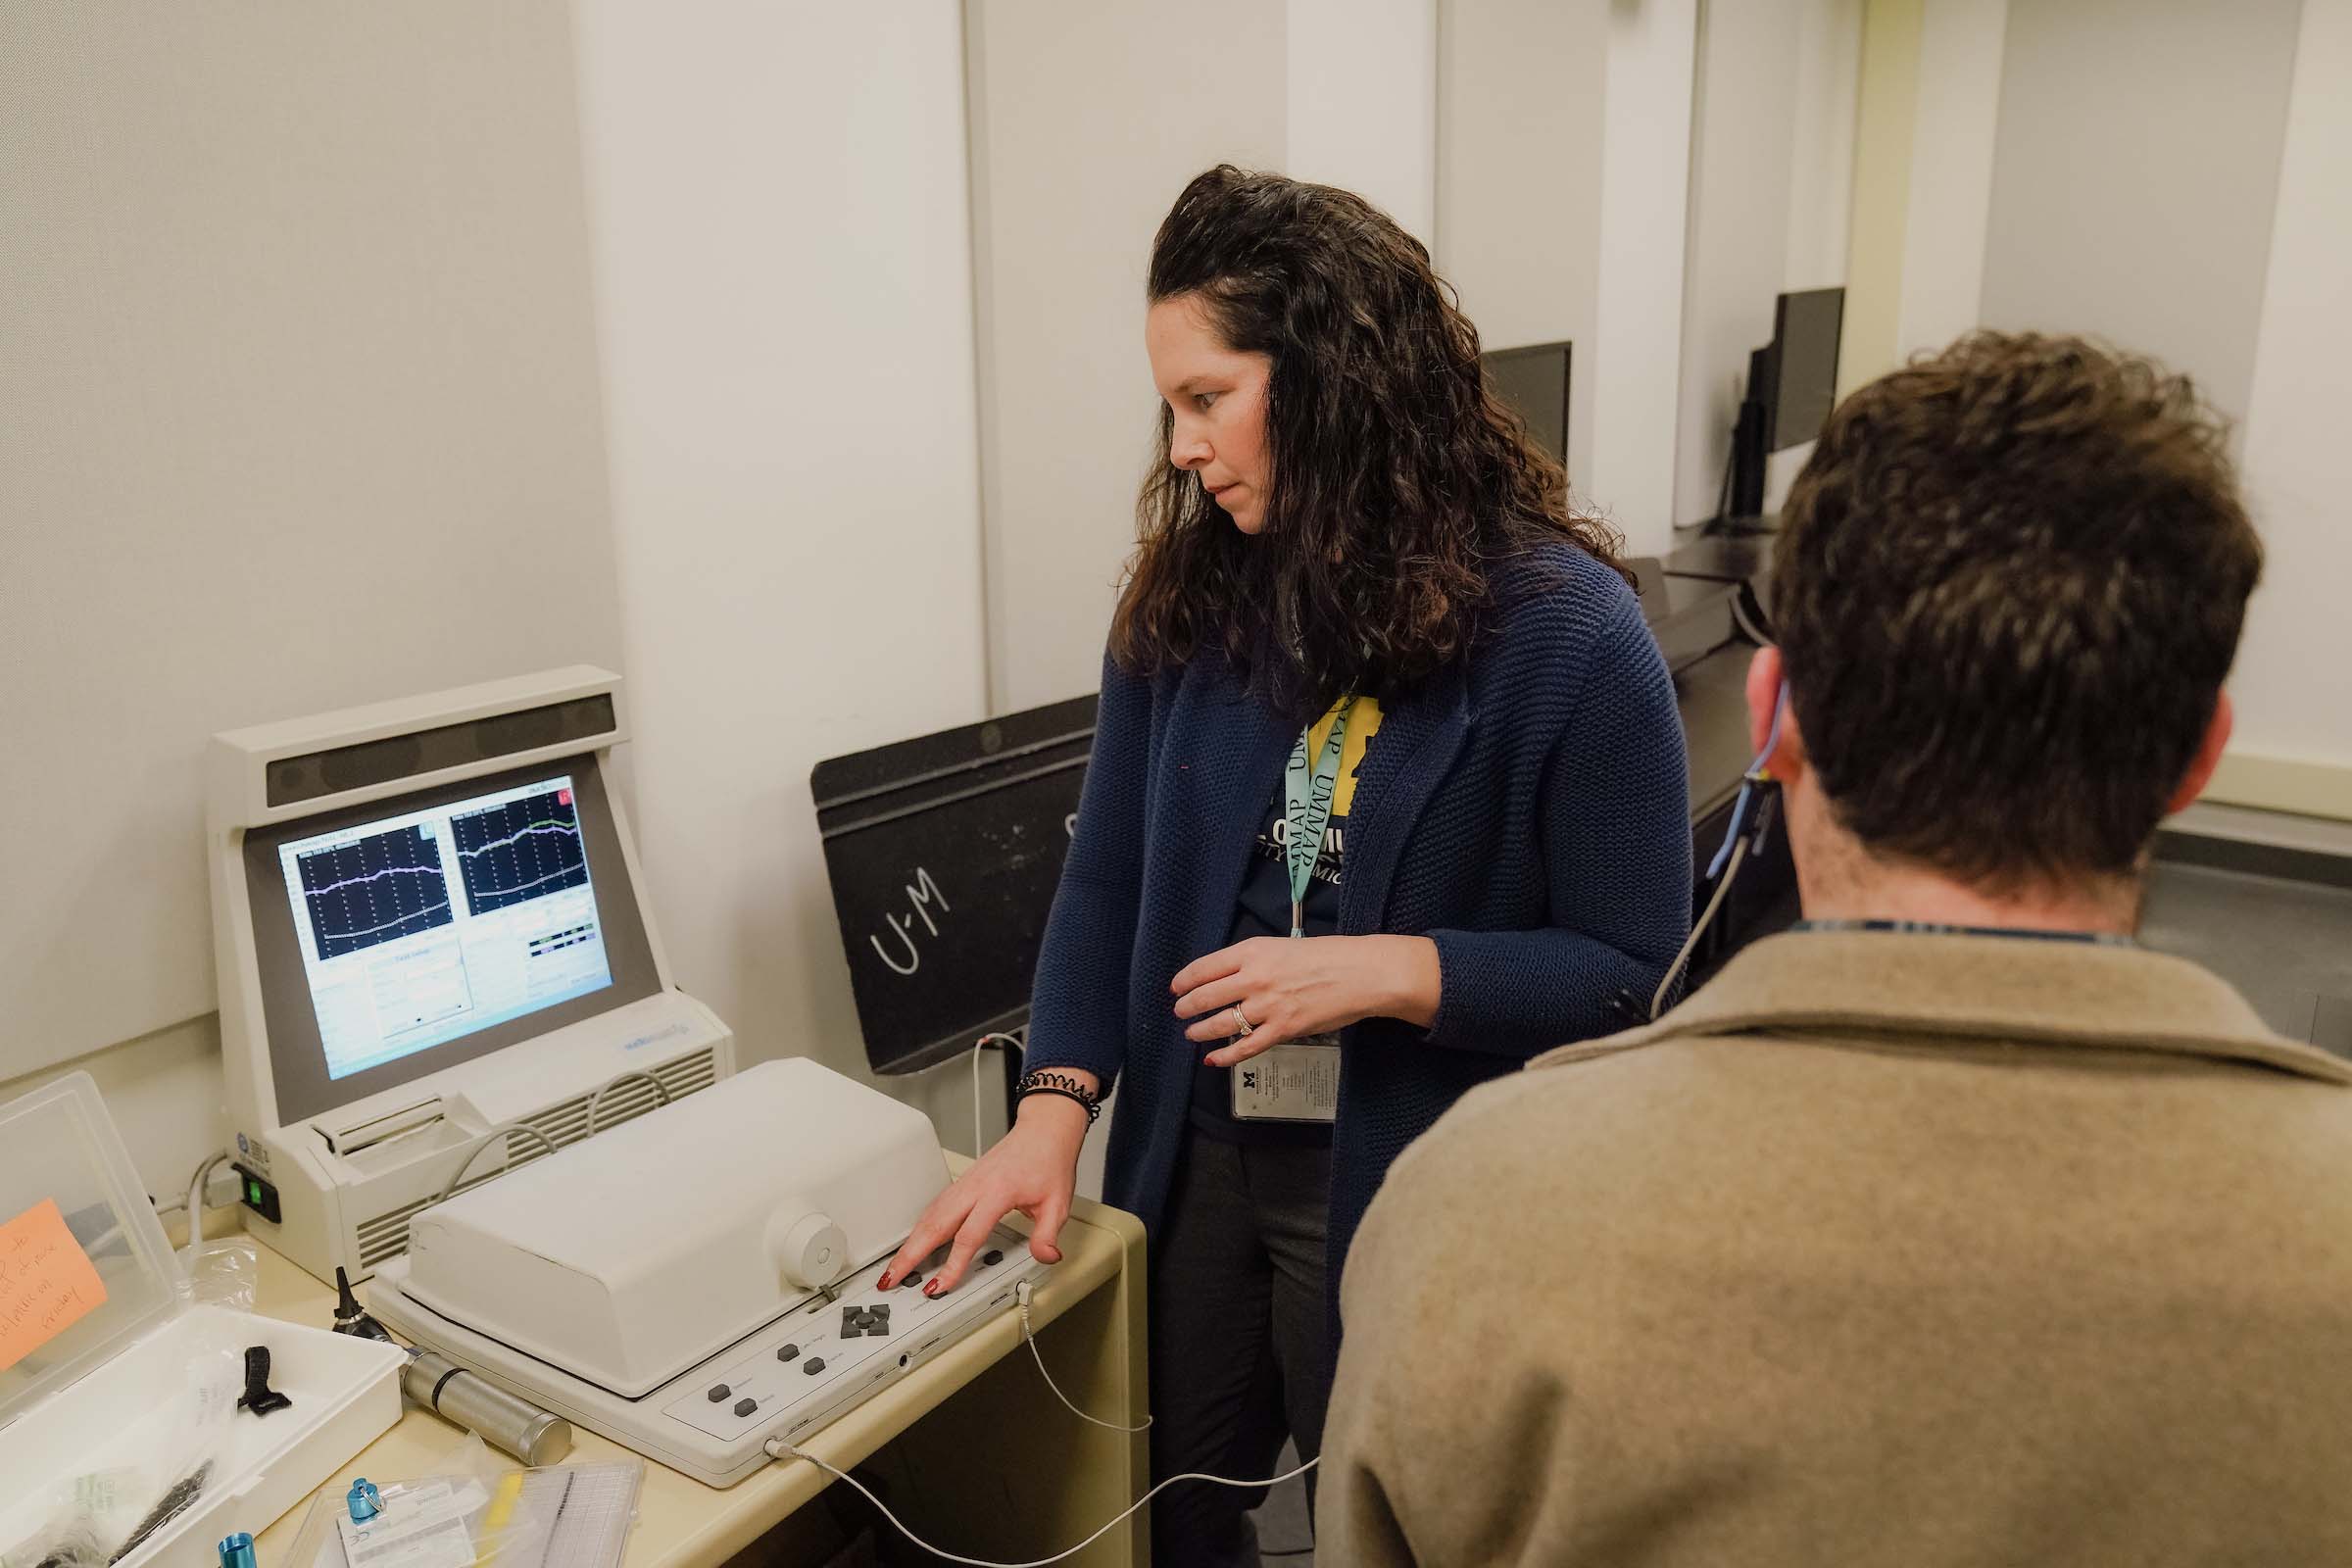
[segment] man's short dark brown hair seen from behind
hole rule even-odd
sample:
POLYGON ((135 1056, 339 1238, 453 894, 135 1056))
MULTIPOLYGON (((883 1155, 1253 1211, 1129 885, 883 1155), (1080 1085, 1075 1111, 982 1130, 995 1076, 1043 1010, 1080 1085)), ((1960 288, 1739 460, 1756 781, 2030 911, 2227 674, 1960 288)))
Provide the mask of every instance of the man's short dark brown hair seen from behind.
POLYGON ((1849 832, 1994 891, 2138 867, 2263 571, 2225 440, 2185 376, 1997 331, 1830 414, 1771 592, 1849 832))

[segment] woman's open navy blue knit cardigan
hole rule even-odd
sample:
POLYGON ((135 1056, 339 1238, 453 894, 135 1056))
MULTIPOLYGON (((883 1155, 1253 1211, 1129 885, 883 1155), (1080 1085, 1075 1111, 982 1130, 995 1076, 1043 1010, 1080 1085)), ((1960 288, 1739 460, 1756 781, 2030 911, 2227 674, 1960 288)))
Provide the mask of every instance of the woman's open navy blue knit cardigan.
MULTIPOLYGON (((1428 1030, 1367 1018, 1341 1034, 1334 1293, 1404 1145, 1529 1056, 1625 1027, 1611 999, 1646 1004, 1689 931, 1682 719, 1632 592, 1559 543, 1503 569, 1496 602, 1463 665, 1381 705, 1357 769, 1338 929, 1432 938, 1442 994, 1428 1030)), ((1028 1065, 1117 1081, 1103 1197, 1150 1229, 1204 1051, 1169 980, 1225 945, 1294 738, 1221 654, 1152 677, 1103 663, 1028 1065)))

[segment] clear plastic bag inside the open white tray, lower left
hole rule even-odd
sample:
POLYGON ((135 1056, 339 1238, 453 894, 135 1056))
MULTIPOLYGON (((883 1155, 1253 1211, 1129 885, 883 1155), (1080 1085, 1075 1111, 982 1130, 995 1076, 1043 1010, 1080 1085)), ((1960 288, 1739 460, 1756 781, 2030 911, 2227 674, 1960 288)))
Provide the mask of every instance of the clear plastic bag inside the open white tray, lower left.
POLYGON ((136 1552, 205 1495, 242 1389, 238 1356, 188 1361, 179 1394, 49 1488, 47 1523, 0 1554, 0 1568, 106 1568, 136 1552))

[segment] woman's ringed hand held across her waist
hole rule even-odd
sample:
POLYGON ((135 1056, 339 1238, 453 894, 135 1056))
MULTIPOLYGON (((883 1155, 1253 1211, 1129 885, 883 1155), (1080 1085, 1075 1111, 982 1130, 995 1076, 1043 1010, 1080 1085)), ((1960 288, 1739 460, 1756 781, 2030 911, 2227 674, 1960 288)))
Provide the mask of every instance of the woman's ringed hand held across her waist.
POLYGON ((1230 1067, 1359 1018, 1428 1027, 1437 1020, 1437 943, 1425 936, 1254 936, 1185 964, 1169 990, 1176 1016, 1197 1020, 1185 1039, 1228 1041, 1207 1063, 1230 1067))

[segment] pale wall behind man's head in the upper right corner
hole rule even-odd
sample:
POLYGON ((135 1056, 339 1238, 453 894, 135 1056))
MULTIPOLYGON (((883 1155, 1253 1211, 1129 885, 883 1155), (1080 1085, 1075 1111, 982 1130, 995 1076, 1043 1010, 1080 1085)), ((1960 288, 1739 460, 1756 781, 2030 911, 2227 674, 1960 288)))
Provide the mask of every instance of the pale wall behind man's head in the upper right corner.
POLYGON ((2352 811, 2352 0, 1926 0, 1900 350, 2096 331, 2239 418, 2270 552, 2216 790, 2352 811), (2194 113, 2180 113, 2194 103, 2194 113))

